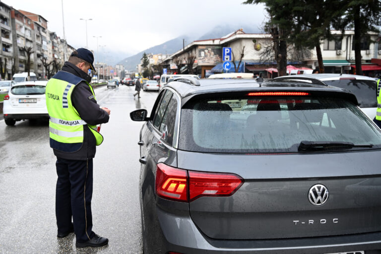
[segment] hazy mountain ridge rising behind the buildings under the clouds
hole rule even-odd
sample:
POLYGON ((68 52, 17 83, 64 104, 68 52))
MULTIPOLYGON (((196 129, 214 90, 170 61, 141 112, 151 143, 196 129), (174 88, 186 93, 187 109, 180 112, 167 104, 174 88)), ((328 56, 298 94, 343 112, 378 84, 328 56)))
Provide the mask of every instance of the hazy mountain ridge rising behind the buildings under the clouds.
POLYGON ((183 47, 183 38, 185 38, 187 44, 192 41, 199 40, 207 40, 207 39, 216 39, 221 38, 229 33, 235 32, 238 29, 244 29, 245 33, 259 33, 259 29, 256 27, 243 25, 243 26, 232 26, 232 25, 224 25, 224 26, 216 26, 207 33, 203 34, 199 38, 191 38, 188 36, 179 36, 175 39, 167 41, 163 44, 151 47, 149 49, 143 50, 142 52, 137 53, 131 57, 127 57, 124 60, 120 61, 118 64, 123 64, 127 70, 135 70, 136 65, 140 63, 140 59, 143 56, 143 53, 153 53, 153 54, 173 54, 179 51, 183 47))

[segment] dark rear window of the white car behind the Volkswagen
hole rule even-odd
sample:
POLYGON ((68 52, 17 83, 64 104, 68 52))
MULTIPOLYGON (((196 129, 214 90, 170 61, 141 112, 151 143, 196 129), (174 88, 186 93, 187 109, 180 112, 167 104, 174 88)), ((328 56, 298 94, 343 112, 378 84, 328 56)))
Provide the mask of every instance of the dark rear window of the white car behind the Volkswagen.
POLYGON ((377 107, 376 80, 342 79, 324 80, 323 82, 327 85, 348 89, 354 93, 361 108, 377 107))

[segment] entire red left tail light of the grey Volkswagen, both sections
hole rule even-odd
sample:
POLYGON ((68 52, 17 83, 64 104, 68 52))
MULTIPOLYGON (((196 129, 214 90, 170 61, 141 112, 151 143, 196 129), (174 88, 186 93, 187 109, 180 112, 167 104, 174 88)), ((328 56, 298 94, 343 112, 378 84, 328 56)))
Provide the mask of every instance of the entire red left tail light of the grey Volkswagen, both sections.
POLYGON ((235 174, 199 172, 157 164, 155 189, 162 198, 181 202, 201 196, 230 196, 244 183, 235 174))

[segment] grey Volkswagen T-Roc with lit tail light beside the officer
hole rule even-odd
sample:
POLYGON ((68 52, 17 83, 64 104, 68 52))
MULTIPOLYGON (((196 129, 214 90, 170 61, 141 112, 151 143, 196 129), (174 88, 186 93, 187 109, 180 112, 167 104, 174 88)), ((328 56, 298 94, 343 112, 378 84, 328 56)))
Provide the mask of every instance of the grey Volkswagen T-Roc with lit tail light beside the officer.
POLYGON ((381 130, 357 105, 314 81, 172 81, 130 113, 144 253, 381 250, 381 130))

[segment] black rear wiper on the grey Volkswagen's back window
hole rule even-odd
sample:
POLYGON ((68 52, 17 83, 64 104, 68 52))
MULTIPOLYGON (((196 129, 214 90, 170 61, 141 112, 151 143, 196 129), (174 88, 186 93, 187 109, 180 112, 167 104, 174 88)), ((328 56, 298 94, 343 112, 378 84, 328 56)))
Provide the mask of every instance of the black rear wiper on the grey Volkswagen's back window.
POLYGON ((353 147, 373 147, 373 144, 354 144, 351 142, 340 141, 307 141, 303 140, 298 146, 299 152, 318 151, 326 149, 350 149, 353 147))

